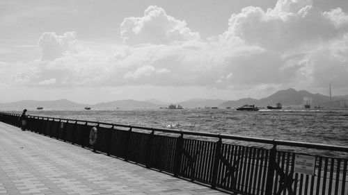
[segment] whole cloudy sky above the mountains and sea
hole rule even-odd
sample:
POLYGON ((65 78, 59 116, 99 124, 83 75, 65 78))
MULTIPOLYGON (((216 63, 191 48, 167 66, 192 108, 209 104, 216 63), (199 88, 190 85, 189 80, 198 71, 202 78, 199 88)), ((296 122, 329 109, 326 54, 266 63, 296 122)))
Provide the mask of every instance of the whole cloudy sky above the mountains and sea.
POLYGON ((348 94, 346 0, 2 0, 0 102, 348 94))

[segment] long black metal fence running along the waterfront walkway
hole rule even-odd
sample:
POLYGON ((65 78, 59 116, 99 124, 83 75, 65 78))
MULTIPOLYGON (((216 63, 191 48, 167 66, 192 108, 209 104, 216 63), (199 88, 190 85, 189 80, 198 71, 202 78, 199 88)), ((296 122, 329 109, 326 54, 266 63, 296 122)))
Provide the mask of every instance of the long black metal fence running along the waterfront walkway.
MULTIPOLYGON (((0 112, 0 121, 21 125, 19 115, 11 113, 0 112)), ((29 116, 26 121, 26 128, 32 132, 87 148, 91 148, 90 129, 97 126, 94 150, 205 183, 213 189, 257 195, 348 194, 347 146, 52 117, 29 116), (235 141, 264 146, 242 146, 235 141), (281 151, 277 146, 329 151, 331 156, 281 151)))

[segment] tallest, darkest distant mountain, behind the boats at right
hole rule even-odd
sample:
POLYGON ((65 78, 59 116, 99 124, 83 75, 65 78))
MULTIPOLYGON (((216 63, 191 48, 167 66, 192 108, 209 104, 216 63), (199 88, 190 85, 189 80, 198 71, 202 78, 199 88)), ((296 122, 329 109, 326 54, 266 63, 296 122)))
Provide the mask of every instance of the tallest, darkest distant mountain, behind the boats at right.
MULTIPOLYGON (((340 100, 340 98, 333 97, 332 100, 338 101, 340 100)), ((258 107, 264 107, 267 105, 276 105, 276 103, 282 103, 283 106, 301 106, 305 103, 309 103, 314 107, 329 101, 329 96, 324 96, 322 94, 312 94, 305 90, 297 92, 296 90, 290 88, 288 90, 280 90, 263 99, 239 99, 237 101, 226 101, 224 103, 221 103, 220 106, 230 106, 236 108, 244 104, 255 104, 258 107), (308 102, 306 101, 306 99, 308 99, 308 102)))

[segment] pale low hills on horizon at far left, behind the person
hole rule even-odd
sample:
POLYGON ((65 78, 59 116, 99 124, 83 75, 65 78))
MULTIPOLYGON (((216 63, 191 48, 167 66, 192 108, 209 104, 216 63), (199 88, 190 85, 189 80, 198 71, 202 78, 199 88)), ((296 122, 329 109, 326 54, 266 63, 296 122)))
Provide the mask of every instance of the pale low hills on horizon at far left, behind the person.
POLYGON ((23 110, 24 108, 29 110, 36 110, 38 107, 43 109, 83 109, 88 104, 75 103, 67 99, 59 99, 55 101, 36 101, 36 100, 24 100, 16 101, 12 103, 0 103, 0 108, 2 110, 23 110))

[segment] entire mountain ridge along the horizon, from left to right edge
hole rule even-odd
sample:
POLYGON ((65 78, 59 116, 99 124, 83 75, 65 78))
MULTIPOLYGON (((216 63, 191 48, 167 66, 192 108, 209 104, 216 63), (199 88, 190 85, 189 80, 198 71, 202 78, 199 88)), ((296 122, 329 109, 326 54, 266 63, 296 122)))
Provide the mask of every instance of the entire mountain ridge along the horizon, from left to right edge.
MULTIPOLYGON (((305 103, 305 99, 310 100, 310 105, 320 106, 320 105, 329 105, 330 97, 324 96, 322 94, 312 94, 306 90, 296 91, 292 88, 287 90, 279 90, 274 94, 271 94, 262 99, 252 99, 252 98, 243 98, 235 101, 226 101, 223 99, 189 99, 187 101, 180 101, 175 104, 182 105, 183 108, 205 108, 205 107, 219 107, 226 108, 232 107, 237 108, 245 104, 254 104, 258 107, 267 106, 267 105, 276 105, 280 102, 284 106, 302 106, 305 103)), ((334 96, 332 101, 343 101, 343 106, 348 104, 348 95, 346 96, 334 96), (345 101, 347 100, 347 102, 345 101)), ((8 110, 23 110, 24 108, 29 110, 35 110, 38 107, 44 109, 66 109, 66 110, 83 110, 85 107, 90 107, 96 110, 114 110, 114 109, 137 109, 137 108, 168 108, 169 103, 164 101, 159 101, 156 99, 150 99, 148 101, 136 101, 133 99, 124 99, 116 100, 95 104, 87 103, 76 103, 68 99, 58 99, 54 101, 37 101, 37 100, 22 100, 15 101, 11 103, 0 103, 0 109, 8 110)), ((335 103, 335 105, 340 106, 341 103, 335 103)))

